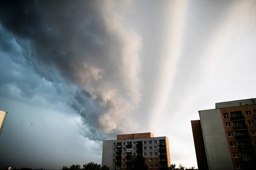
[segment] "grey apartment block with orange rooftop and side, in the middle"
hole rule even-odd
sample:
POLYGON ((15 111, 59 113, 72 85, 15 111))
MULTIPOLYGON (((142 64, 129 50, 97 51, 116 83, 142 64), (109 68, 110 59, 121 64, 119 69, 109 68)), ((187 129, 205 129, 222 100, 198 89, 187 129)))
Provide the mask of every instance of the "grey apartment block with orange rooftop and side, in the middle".
POLYGON ((152 133, 133 133, 103 141, 102 165, 112 170, 128 170, 133 156, 143 157, 150 170, 169 167, 169 140, 166 136, 154 137, 152 133))

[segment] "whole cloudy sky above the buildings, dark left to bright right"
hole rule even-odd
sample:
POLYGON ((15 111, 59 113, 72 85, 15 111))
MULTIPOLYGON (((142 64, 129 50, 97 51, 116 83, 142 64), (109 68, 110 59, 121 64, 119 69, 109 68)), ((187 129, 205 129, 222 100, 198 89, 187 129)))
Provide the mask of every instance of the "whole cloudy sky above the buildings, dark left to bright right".
POLYGON ((72 2, 0 6, 1 167, 101 163, 140 132, 189 167, 198 110, 256 96, 254 0, 72 2))

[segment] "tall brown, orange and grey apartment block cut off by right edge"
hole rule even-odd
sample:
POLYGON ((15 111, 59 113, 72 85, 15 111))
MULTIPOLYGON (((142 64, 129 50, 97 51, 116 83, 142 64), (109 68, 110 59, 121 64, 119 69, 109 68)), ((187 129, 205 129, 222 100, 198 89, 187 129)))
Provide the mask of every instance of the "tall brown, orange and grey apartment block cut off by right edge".
POLYGON ((191 121, 199 170, 256 170, 256 99, 215 103, 191 121))

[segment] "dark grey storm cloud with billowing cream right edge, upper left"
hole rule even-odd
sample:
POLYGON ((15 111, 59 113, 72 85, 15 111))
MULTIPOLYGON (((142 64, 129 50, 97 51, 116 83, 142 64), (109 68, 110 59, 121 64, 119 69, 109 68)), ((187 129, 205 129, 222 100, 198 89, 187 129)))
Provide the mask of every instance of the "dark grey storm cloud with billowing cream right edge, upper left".
MULTIPOLYGON (((111 5, 67 0, 11 0, 0 5, 0 23, 22 46, 26 64, 52 82, 58 94, 69 97, 67 104, 89 125, 89 136, 98 133, 96 129, 122 129, 116 116, 130 113, 140 102, 140 38, 125 30, 111 5), (61 88, 64 83, 81 88, 68 96, 61 88)), ((3 39, 2 51, 13 51, 3 39)), ((38 84, 27 85, 19 89, 32 95, 29 91, 38 84)))

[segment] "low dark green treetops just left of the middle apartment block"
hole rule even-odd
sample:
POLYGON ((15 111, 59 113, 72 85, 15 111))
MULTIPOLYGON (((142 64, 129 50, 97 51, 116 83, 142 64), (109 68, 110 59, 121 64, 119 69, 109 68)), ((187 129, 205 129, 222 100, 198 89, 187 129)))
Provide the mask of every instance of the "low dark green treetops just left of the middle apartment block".
POLYGON ((101 164, 96 164, 94 162, 90 162, 84 164, 83 167, 79 164, 73 164, 70 167, 63 166, 61 170, 110 170, 110 167, 101 166, 101 164))

